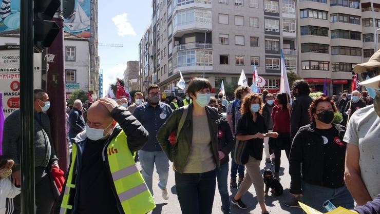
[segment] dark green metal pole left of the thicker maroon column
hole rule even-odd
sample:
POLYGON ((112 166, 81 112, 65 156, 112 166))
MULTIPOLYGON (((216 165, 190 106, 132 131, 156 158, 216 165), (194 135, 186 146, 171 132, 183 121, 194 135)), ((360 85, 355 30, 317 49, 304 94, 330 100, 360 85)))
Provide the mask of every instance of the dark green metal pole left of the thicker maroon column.
POLYGON ((33 1, 22 0, 20 11, 21 212, 35 212, 33 1))

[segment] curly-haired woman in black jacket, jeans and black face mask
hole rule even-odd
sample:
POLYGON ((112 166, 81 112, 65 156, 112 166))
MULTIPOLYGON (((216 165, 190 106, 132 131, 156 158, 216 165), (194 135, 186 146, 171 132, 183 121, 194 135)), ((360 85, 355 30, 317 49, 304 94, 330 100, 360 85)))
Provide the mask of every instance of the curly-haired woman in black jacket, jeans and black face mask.
POLYGON ((346 128, 332 123, 334 112, 336 108, 329 97, 320 96, 311 103, 311 124, 298 130, 289 158, 290 193, 321 212, 327 200, 335 207, 354 207, 344 182, 346 128))

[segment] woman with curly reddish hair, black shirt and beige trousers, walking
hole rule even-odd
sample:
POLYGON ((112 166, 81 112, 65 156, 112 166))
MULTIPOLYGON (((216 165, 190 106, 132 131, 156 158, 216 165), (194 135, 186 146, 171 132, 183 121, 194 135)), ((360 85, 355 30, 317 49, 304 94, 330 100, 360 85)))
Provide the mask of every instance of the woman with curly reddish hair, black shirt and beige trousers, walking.
POLYGON ((265 137, 277 138, 276 132, 268 133, 265 126, 264 117, 262 116, 262 98, 257 93, 250 93, 245 96, 240 108, 242 117, 237 127, 236 138, 239 141, 248 141, 247 150, 249 160, 245 164, 246 174, 241 182, 238 192, 232 199, 231 203, 241 209, 248 208, 242 201, 241 197, 253 184, 257 194, 257 200, 261 207, 261 213, 267 214, 264 199, 264 182, 260 171, 260 162, 262 160, 262 144, 265 137))

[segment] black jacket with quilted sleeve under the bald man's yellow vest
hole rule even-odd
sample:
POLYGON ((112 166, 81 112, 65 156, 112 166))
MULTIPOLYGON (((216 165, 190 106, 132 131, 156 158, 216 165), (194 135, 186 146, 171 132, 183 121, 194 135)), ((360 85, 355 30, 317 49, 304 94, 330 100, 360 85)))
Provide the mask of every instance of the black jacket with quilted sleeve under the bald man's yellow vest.
MULTIPOLYGON (((145 128, 141 125, 141 123, 135 118, 135 116, 133 116, 126 108, 121 107, 121 106, 118 106, 115 109, 113 109, 111 112, 111 116, 116 122, 118 122, 119 126, 117 126, 113 129, 112 134, 109 136, 108 140, 106 141, 106 143, 104 145, 104 148, 108 147, 111 140, 114 137, 116 137, 122 129, 127 136, 128 140, 126 142, 128 144, 129 150, 131 152, 135 152, 144 146, 145 142, 148 140, 149 134, 148 134, 148 131, 146 131, 145 128)), ((80 184, 79 180, 80 180, 81 171, 82 171, 81 160, 83 157, 83 152, 86 148, 86 142, 87 142, 87 137, 85 135, 82 136, 82 133, 79 134, 77 136, 77 138, 74 139, 74 143, 78 147, 78 149, 77 149, 77 161, 75 162, 75 165, 74 165, 75 172, 73 172, 74 173, 73 174, 73 180, 75 181, 75 185, 80 184)), ((105 158, 105 160, 103 160, 103 161, 104 161, 104 164, 106 166, 108 166, 108 159, 107 159, 107 157, 108 157, 107 152, 108 151, 107 151, 107 149, 103 149, 103 150, 104 150, 104 158, 105 158)), ((70 160, 71 160, 71 158, 70 158, 70 160)), ((70 163, 69 169, 71 167, 71 164, 73 164, 73 163, 70 163)), ((66 174, 66 177, 65 177, 66 181, 67 181, 67 176, 68 176, 68 173, 66 174)), ((113 186, 112 174, 111 174, 110 170, 109 170, 109 179, 110 179, 109 182, 112 184, 112 188, 113 188, 112 190, 115 193, 115 200, 117 200, 118 209, 119 209, 120 213, 121 214, 129 214, 129 213, 124 213, 122 206, 121 206, 121 202, 118 200, 118 196, 116 193, 115 186, 113 186)), ((66 187, 66 182, 65 182, 62 190, 64 190, 65 187, 66 187)), ((75 198, 74 198, 75 194, 78 194, 78 190, 79 190, 79 188, 75 188, 75 190, 72 190, 70 192, 71 194, 70 194, 70 199, 69 199, 69 205, 72 206, 72 209, 68 209, 68 212, 67 212, 68 214, 73 213, 73 212, 75 213, 75 209, 78 206, 78 200, 75 200, 75 198)), ((58 202, 55 205, 54 214, 60 213, 63 196, 64 196, 64 194, 62 192, 61 196, 58 199, 58 202)), ((88 196, 88 197, 100 197, 100 196, 88 196)), ((93 206, 93 205, 89 205, 89 206, 93 206)), ((102 204, 101 206, 107 206, 107 205, 102 204)))

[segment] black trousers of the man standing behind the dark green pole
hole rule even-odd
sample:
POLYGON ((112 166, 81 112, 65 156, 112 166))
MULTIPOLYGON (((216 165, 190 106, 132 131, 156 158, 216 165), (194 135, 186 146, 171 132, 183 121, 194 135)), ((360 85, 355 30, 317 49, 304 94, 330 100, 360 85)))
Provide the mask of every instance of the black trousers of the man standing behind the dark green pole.
MULTIPOLYGON (((55 202, 51 185, 52 182, 46 170, 47 169, 45 167, 34 168, 36 214, 50 214, 51 208, 55 202)), ((7 214, 20 214, 21 194, 18 194, 18 196, 13 199, 7 199, 6 207, 7 214)))

